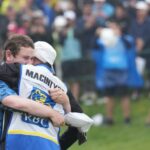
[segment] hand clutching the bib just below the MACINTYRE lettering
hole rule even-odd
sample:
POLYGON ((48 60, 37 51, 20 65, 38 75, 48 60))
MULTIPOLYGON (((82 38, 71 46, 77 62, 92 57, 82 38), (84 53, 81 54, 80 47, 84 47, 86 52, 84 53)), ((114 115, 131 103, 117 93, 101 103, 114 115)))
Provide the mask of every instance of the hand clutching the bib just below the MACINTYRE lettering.
POLYGON ((55 89, 50 89, 48 92, 49 92, 49 95, 52 98, 52 100, 54 100, 58 104, 63 105, 66 112, 71 111, 69 98, 63 90, 61 90, 59 88, 55 88, 55 89))

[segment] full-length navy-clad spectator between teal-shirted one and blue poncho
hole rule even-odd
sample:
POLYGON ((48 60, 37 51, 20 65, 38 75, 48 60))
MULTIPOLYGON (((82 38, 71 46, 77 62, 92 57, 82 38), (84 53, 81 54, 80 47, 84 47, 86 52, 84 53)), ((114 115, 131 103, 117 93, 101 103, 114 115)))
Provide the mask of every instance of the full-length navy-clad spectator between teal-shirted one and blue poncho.
POLYGON ((95 31, 97 28, 96 18, 92 13, 92 6, 90 2, 85 2, 81 10, 81 16, 78 17, 76 24, 76 35, 81 42, 82 52, 82 93, 80 100, 86 105, 93 104, 96 99, 96 92, 94 86, 94 70, 95 64, 91 58, 91 52, 95 39, 95 31), (82 67, 83 66, 83 67, 82 67), (88 66, 85 68, 85 66, 88 66))

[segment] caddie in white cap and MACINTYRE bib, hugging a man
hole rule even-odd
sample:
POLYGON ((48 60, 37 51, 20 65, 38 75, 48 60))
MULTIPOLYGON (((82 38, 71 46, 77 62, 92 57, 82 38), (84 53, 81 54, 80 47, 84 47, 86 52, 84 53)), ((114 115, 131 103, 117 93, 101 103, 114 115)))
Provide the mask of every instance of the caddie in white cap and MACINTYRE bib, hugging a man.
MULTIPOLYGON (((48 43, 39 41, 35 43, 34 56, 35 66, 6 64, 2 68, 4 74, 7 69, 16 67, 17 71, 12 69, 11 75, 16 76, 16 86, 19 81, 20 96, 48 105, 64 114, 63 106, 55 103, 48 93, 49 88, 60 88, 67 92, 64 83, 53 75, 55 50, 48 43)), ((3 80, 3 77, 0 78, 3 80)), ((6 138, 6 150, 59 150, 58 134, 59 128, 48 119, 13 112, 6 138)))

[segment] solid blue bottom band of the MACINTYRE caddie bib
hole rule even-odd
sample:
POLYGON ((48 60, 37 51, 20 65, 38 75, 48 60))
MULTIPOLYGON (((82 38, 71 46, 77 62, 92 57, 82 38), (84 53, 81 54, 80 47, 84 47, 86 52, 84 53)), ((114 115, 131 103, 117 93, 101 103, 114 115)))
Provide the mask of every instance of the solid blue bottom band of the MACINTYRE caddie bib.
POLYGON ((6 150, 60 150, 56 143, 37 136, 7 135, 6 150))

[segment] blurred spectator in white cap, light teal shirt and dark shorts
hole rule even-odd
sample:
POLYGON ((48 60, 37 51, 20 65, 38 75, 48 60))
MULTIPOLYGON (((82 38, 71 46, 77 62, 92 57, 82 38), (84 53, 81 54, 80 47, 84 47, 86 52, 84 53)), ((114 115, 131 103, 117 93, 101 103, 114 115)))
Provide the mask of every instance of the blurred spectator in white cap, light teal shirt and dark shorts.
POLYGON ((63 46, 61 52, 63 79, 69 81, 70 89, 79 99, 79 81, 80 75, 79 60, 81 59, 81 44, 75 35, 76 14, 72 10, 64 12, 67 20, 66 33, 63 37, 63 46))

